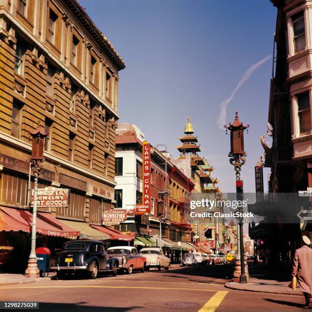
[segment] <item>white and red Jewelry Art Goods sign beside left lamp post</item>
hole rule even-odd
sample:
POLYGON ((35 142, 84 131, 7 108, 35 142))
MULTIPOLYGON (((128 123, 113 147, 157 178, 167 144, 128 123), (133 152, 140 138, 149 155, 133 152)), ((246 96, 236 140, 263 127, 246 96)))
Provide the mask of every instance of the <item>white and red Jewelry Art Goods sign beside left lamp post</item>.
MULTIPOLYGON (((48 187, 37 190, 37 207, 67 207, 68 189, 48 187)), ((34 205, 34 190, 31 194, 31 205, 34 205)))

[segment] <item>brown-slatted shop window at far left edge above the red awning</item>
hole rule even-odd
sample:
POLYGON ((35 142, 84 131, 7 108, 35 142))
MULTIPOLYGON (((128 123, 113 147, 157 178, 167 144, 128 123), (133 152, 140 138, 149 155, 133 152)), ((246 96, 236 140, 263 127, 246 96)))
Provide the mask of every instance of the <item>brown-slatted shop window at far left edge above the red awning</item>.
POLYGON ((27 205, 28 179, 18 173, 0 174, 0 202, 12 205, 27 205))

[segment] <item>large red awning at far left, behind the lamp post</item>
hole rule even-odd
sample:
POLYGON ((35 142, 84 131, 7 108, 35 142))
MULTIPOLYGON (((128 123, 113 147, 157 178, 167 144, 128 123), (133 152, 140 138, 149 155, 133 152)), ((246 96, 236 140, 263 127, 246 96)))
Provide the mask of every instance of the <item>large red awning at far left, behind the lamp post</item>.
MULTIPOLYGON (((0 208, 0 231, 31 232, 33 215, 27 210, 0 208)), ((80 231, 62 223, 50 213, 37 213, 37 233, 48 236, 76 237, 80 231)))

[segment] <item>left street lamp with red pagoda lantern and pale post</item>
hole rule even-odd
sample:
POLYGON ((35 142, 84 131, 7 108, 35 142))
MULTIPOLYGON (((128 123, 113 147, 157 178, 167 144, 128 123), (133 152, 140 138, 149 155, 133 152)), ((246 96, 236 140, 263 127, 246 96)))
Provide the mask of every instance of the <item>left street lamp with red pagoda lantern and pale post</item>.
POLYGON ((36 256, 36 229, 37 229, 37 189, 38 189, 38 176, 41 169, 43 168, 43 150, 44 143, 47 137, 47 133, 41 131, 40 126, 31 132, 32 136, 32 156, 31 156, 31 168, 33 175, 35 176, 34 183, 34 205, 33 205, 33 224, 32 224, 32 248, 28 260, 28 267, 25 271, 26 277, 36 278, 39 277, 39 270, 37 267, 37 256, 36 256))

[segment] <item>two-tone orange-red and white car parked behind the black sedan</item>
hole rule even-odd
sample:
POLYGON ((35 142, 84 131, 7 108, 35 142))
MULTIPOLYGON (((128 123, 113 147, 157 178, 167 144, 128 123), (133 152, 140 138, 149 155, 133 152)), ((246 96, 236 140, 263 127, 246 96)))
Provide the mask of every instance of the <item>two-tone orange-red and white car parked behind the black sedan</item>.
POLYGON ((116 246, 107 250, 110 257, 117 258, 119 269, 131 274, 133 270, 139 270, 142 273, 146 266, 146 257, 140 255, 136 247, 116 246))

